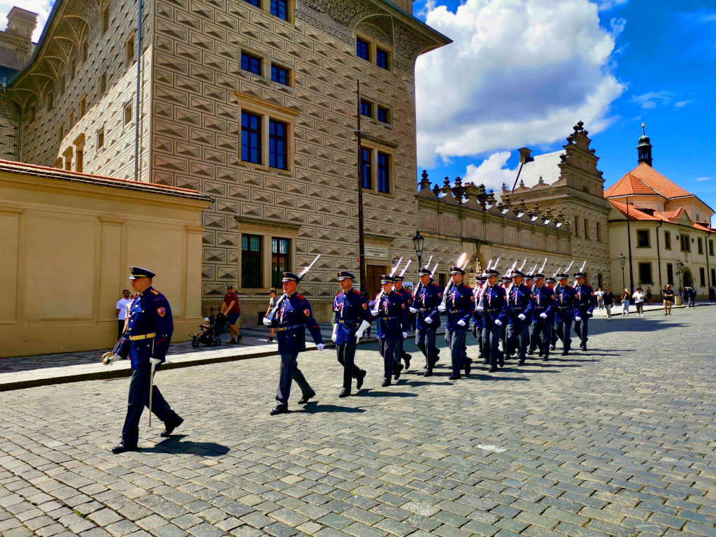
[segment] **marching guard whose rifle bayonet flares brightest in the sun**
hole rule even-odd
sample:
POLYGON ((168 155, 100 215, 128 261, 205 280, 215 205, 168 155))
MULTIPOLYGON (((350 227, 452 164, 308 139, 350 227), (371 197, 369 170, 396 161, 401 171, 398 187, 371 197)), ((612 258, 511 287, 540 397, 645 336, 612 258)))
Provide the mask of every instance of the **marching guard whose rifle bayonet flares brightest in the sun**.
POLYGON ((460 369, 465 369, 465 375, 470 374, 472 360, 465 356, 465 337, 470 328, 470 318, 475 311, 475 296, 473 288, 463 282, 465 271, 459 266, 450 269, 453 286, 448 291, 448 329, 450 330, 450 357, 453 360, 453 374, 450 380, 460 378, 460 369))

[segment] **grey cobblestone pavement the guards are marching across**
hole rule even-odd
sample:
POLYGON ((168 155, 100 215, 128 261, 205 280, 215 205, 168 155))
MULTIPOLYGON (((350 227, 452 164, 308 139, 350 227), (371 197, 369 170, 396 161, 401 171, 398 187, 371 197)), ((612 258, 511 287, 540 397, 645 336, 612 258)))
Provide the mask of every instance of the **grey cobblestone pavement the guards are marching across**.
MULTIPOLYGON (((334 352, 299 362, 319 396, 269 417, 276 357, 158 372, 185 418, 112 455, 128 379, 0 394, 0 533, 195 537, 716 536, 711 309, 598 319, 589 353, 448 381, 410 372, 339 399, 334 352)), ((475 357, 469 342, 468 353, 475 357)))

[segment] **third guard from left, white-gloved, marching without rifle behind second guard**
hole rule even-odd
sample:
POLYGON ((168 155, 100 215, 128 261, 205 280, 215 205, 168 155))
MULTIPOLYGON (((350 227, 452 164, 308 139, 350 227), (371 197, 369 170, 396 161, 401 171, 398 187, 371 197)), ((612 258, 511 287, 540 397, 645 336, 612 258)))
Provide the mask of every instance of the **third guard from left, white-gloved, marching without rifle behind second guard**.
POLYGON ((353 379, 356 379, 356 389, 360 390, 365 378, 365 370, 355 363, 356 346, 370 326, 372 317, 368 311, 368 301, 353 289, 353 274, 343 271, 338 273, 338 283, 341 291, 333 300, 335 311, 335 324, 333 326, 333 342, 336 344, 338 362, 343 366, 343 390, 338 397, 351 395, 353 379))

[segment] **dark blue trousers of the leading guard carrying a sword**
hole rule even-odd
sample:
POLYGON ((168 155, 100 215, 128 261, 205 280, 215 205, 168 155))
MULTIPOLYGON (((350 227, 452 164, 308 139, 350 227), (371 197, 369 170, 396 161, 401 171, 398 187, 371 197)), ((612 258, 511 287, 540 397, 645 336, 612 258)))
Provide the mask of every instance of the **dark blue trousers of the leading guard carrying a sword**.
MULTIPOLYGON (((122 427, 122 442, 125 442, 125 445, 135 446, 139 440, 139 420, 144 407, 149 407, 149 382, 149 365, 132 371, 127 417, 125 417, 125 425, 122 427)), ((167 425, 173 425, 181 420, 156 386, 152 390, 152 412, 167 425)))

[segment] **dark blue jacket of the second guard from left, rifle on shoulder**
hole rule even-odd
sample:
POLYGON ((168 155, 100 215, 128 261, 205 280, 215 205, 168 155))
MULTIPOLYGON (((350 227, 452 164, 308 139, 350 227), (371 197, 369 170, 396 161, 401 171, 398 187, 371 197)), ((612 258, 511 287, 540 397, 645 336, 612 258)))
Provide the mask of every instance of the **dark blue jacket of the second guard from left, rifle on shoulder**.
POLYGON ((313 318, 311 304, 298 293, 284 299, 271 326, 276 327, 279 354, 292 354, 306 350, 306 328, 316 344, 323 343, 321 329, 313 318))

